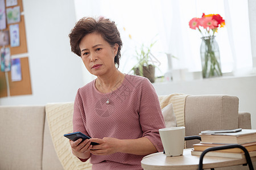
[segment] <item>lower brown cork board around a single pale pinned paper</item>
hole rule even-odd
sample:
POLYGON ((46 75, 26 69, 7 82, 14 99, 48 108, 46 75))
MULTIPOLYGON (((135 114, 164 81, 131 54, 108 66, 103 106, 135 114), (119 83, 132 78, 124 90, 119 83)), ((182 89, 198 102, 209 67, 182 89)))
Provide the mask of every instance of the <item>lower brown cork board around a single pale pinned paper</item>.
POLYGON ((31 95, 30 67, 28 57, 20 58, 20 67, 22 72, 22 80, 18 82, 11 81, 11 72, 8 72, 10 96, 31 95))

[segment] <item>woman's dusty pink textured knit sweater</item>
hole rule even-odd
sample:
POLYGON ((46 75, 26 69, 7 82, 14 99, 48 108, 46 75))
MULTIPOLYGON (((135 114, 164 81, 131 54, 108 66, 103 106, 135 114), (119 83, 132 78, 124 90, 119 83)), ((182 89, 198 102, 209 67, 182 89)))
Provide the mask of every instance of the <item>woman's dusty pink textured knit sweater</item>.
MULTIPOLYGON (((146 137, 158 151, 163 151, 158 129, 164 127, 158 96, 146 78, 125 75, 121 86, 109 94, 99 92, 95 80, 77 91, 73 131, 101 139, 146 137), (106 104, 108 97, 110 103, 106 104)), ((118 152, 104 156, 91 155, 90 163, 93 169, 142 169, 142 158, 143 155, 118 152)))

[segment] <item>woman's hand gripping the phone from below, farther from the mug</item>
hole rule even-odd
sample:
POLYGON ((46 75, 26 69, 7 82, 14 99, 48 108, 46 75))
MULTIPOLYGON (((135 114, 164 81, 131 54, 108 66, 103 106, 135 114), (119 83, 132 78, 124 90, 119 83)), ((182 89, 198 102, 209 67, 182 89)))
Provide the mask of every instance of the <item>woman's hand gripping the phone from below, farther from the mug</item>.
POLYGON ((75 142, 69 140, 69 144, 72 148, 72 153, 77 156, 80 159, 89 159, 90 158, 90 149, 92 148, 92 145, 90 145, 90 142, 88 139, 85 139, 85 141, 81 142, 82 139, 77 139, 75 142))

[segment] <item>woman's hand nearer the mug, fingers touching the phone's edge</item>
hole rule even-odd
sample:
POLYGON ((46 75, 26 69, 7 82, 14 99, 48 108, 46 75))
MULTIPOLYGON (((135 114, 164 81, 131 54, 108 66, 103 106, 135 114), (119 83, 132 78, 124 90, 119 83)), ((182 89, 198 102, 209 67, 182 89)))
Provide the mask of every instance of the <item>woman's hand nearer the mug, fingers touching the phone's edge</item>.
POLYGON ((122 140, 116 138, 91 138, 90 142, 97 142, 100 145, 93 145, 90 149, 90 153, 93 155, 110 155, 115 152, 119 152, 119 148, 121 148, 122 140))

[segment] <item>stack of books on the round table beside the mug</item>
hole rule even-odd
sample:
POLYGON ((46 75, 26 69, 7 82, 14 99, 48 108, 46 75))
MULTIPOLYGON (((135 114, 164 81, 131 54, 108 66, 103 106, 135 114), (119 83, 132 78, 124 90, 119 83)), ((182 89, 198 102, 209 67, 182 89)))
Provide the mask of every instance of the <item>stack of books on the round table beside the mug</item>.
MULTIPOLYGON (((238 144, 245 147, 251 157, 256 156, 256 130, 254 129, 242 129, 234 133, 200 133, 199 135, 201 142, 193 145, 191 155, 201 155, 209 147, 238 144)), ((245 154, 240 148, 210 151, 206 156, 245 158, 245 154)))

